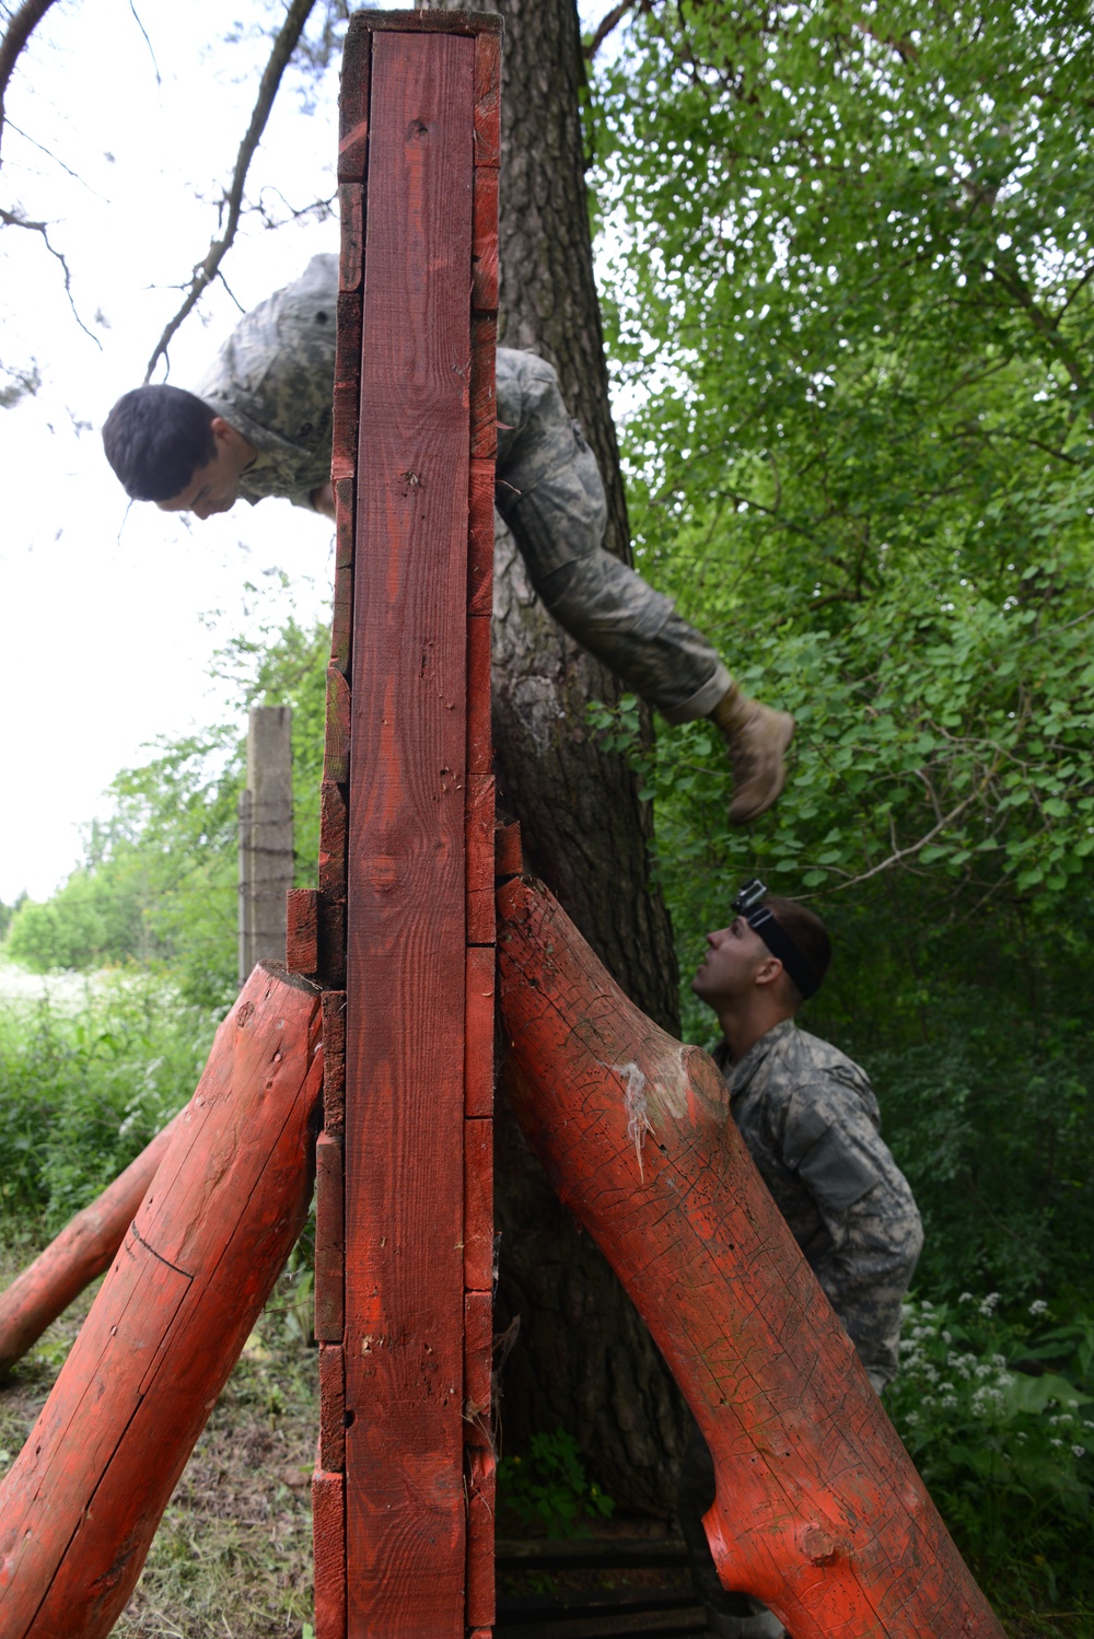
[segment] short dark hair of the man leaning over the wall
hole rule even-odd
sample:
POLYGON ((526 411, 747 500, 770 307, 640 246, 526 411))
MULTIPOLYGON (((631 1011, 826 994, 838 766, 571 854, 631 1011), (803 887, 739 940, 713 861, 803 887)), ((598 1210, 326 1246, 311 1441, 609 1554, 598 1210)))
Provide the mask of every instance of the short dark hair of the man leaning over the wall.
POLYGON ((103 426, 106 461, 134 502, 169 502, 216 456, 213 411, 183 387, 134 387, 103 426))

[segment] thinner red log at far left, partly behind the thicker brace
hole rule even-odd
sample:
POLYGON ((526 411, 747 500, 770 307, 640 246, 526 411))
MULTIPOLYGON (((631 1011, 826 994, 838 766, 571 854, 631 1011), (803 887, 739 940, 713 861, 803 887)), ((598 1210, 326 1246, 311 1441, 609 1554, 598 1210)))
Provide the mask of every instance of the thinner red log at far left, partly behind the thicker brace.
MULTIPOLYGON (((491 952, 493 960, 493 952, 491 952)), ((167 1154, 179 1116, 118 1174, 98 1200, 66 1224, 0 1295, 0 1377, 38 1342, 85 1287, 110 1267, 144 1192, 167 1154)))

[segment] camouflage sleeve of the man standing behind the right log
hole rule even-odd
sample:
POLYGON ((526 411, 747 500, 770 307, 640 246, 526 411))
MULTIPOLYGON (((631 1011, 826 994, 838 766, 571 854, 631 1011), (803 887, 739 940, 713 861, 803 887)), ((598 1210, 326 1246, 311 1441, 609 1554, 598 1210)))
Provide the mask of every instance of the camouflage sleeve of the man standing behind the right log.
POLYGON ((830 1236, 814 1272, 879 1388, 897 1370, 901 1300, 924 1244, 919 1210, 850 1087, 830 1078, 796 1093, 783 1154, 830 1236))

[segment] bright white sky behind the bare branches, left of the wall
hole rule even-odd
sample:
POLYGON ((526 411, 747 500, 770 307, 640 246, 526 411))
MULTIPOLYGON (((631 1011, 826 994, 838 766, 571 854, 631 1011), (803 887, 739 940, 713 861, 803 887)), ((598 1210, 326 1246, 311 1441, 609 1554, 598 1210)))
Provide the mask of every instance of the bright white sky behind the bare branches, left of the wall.
MULTIPOLYGON (((13 369, 36 359, 43 375, 34 398, 0 410, 0 901, 8 905, 23 890, 47 898, 66 879, 80 828, 106 808, 105 787, 146 760, 156 736, 223 720, 208 664, 247 628, 255 600, 244 583, 267 588, 267 613, 292 605, 306 621, 331 574, 324 520, 287 502, 239 503, 192 524, 147 505, 126 516, 102 454, 106 411, 139 385, 175 311, 170 287, 206 252, 211 202, 231 174, 269 56, 269 39, 255 33, 265 21, 259 0, 231 10, 215 0, 134 3, 160 84, 128 0, 85 0, 47 13, 7 98, 0 203, 18 202, 51 223, 79 313, 102 341, 100 351, 77 326, 39 238, 2 229, 0 361, 13 369), (229 33, 237 43, 224 43, 229 33), (270 590, 274 569, 290 575, 288 595, 270 590)), ((601 11, 593 0, 581 7, 583 16, 601 11)), ((334 80, 329 74, 305 113, 290 69, 251 167, 251 200, 264 185, 293 207, 334 192, 334 80)), ((244 220, 224 275, 249 308, 321 249, 337 249, 334 220, 277 233, 244 220)), ((172 382, 198 379, 237 311, 219 285, 203 298, 170 349, 172 382)))

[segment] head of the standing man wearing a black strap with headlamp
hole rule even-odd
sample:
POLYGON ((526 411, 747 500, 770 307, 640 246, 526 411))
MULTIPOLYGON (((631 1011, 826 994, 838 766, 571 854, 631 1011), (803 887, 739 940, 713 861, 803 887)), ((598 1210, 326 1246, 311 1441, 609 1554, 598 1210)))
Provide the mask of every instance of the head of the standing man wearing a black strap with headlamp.
POLYGON ((716 1013, 762 1008, 793 1018, 816 995, 832 962, 832 941, 816 911, 742 890, 727 928, 706 936, 706 957, 691 988, 716 1013))

